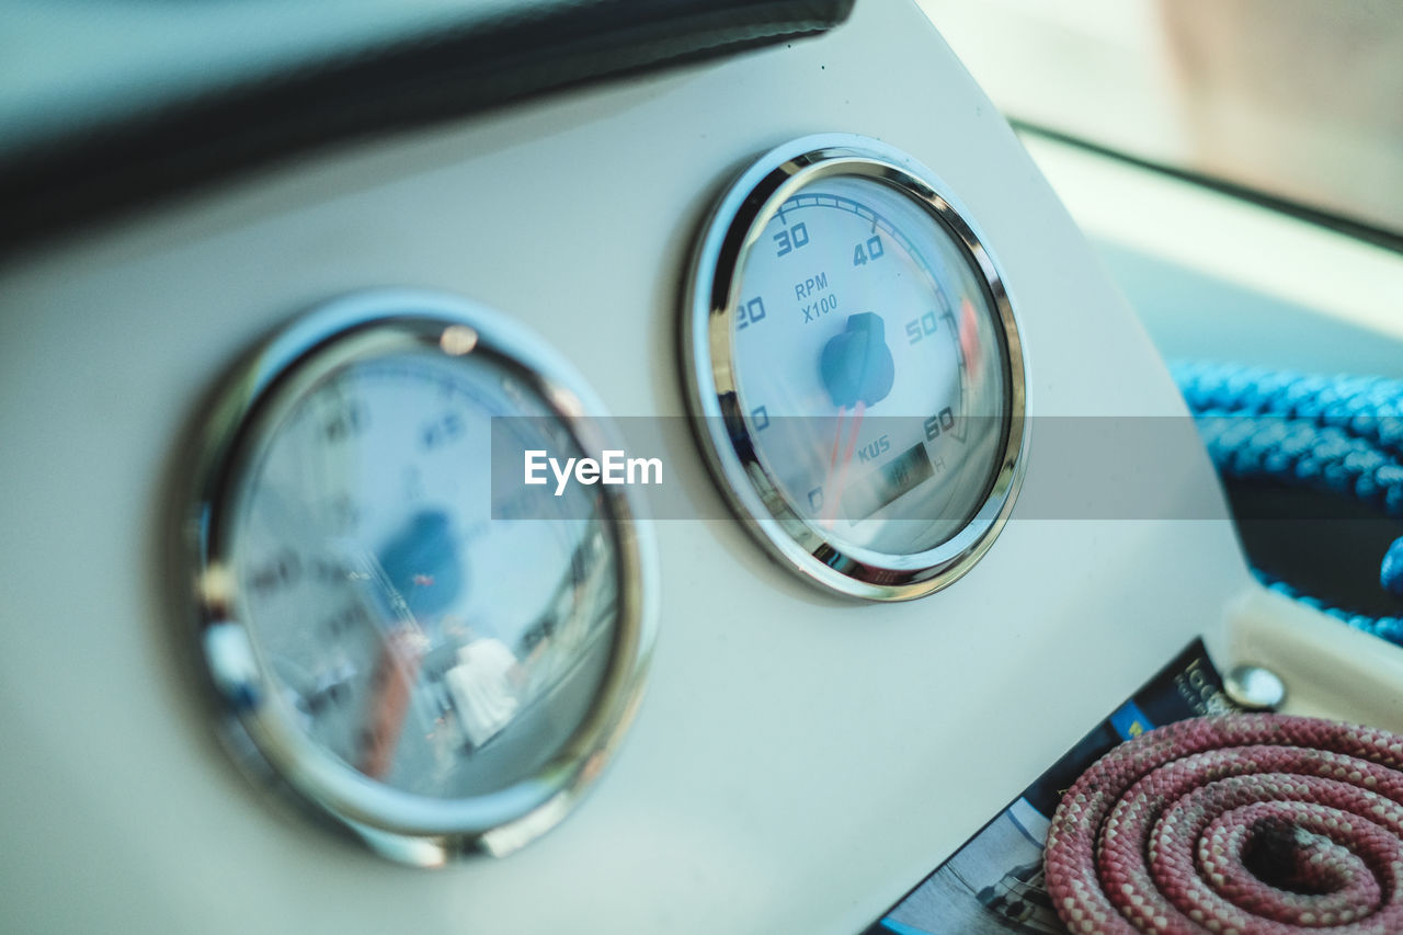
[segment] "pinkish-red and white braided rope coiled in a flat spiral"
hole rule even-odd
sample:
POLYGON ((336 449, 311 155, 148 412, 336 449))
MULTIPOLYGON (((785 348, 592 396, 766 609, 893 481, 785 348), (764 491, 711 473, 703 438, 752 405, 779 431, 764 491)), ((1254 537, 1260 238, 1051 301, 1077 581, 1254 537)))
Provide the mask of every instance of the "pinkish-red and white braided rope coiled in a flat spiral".
POLYGON ((1048 893, 1072 932, 1403 932, 1403 737, 1223 715, 1121 744, 1066 792, 1048 893))

